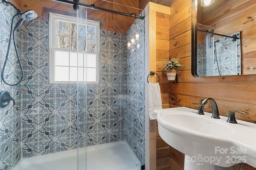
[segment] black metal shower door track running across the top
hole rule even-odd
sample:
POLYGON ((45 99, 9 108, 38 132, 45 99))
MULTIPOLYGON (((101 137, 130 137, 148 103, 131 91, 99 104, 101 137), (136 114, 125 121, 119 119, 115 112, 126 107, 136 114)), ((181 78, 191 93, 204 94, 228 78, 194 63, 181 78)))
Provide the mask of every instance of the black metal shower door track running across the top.
POLYGON ((83 6, 85 8, 92 8, 92 9, 95 9, 95 10, 100 10, 100 11, 105 11, 105 12, 111 12, 111 13, 114 13, 114 14, 119 14, 119 15, 122 15, 122 16, 128 16, 128 17, 132 17, 132 18, 138 18, 138 19, 141 19, 141 20, 144 19, 144 16, 137 16, 136 13, 126 14, 126 13, 123 13, 123 12, 108 10, 108 9, 105 9, 105 8, 99 8, 99 7, 96 7, 94 4, 86 5, 86 4, 80 4, 79 2, 72 2, 72 1, 68 1, 68 0, 54 0, 54 1, 64 2, 64 3, 67 3, 67 4, 72 4, 72 5, 77 5, 77 6, 83 6))

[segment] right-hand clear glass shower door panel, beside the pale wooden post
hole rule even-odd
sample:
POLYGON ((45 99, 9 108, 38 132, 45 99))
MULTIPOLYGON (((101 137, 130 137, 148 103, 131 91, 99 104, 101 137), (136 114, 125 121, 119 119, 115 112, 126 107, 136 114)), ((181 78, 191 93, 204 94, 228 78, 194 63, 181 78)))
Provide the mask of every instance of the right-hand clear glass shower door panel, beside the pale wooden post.
POLYGON ((78 53, 84 55, 78 65, 85 66, 78 77, 87 82, 78 82, 79 170, 140 170, 144 164, 144 20, 136 18, 143 12, 122 3, 98 0, 77 10, 78 53))

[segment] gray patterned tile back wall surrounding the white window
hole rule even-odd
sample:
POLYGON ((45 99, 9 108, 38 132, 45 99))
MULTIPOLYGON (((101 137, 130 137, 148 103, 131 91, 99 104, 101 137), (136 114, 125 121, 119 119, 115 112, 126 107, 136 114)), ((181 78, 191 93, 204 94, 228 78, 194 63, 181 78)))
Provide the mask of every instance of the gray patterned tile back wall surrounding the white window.
POLYGON ((77 94, 76 85, 48 84, 48 22, 23 26, 23 157, 77 147, 77 97, 79 147, 124 140, 125 35, 101 30, 100 84, 81 84, 77 94))

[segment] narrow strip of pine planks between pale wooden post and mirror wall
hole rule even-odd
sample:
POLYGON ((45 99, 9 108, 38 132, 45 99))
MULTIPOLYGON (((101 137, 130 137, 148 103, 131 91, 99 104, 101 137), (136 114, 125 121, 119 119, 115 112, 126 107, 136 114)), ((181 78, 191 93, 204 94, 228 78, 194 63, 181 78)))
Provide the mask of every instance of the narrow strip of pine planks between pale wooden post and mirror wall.
MULTIPOLYGON (((160 76, 162 107, 169 108, 169 81, 163 72, 163 59, 169 59, 169 15, 156 13, 156 73, 160 76)), ((170 170, 170 146, 159 136, 157 126, 156 132, 156 170, 170 170)))

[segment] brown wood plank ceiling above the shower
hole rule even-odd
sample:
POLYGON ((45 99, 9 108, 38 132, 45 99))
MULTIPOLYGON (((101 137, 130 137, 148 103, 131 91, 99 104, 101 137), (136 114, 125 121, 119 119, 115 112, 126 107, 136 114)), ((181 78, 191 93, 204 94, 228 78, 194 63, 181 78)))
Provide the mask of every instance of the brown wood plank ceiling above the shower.
MULTIPOLYGON (((70 0, 71 1, 71 0, 70 0)), ((115 10, 118 12, 124 12, 127 14, 136 13, 137 15, 142 12, 142 10, 137 10, 134 8, 139 8, 139 0, 108 0, 106 2, 103 0, 80 0, 81 4, 95 4, 96 7, 106 8, 109 10, 115 10), (117 3, 112 4, 111 2, 117 3), (124 6, 118 5, 122 4, 124 6), (128 6, 134 7, 130 8, 128 6)), ((26 10, 34 10, 38 14, 38 19, 48 20, 48 12, 54 12, 58 14, 65 14, 70 16, 76 16, 76 12, 73 10, 72 5, 65 4, 62 2, 57 2, 54 0, 10 0, 16 7, 18 7, 22 12, 26 10)), ((81 7, 80 13, 81 18, 85 17, 85 8, 81 7)), ((132 23, 134 23, 134 18, 129 18, 126 16, 121 16, 117 14, 112 14, 110 12, 103 12, 99 10, 87 9, 88 19, 96 20, 101 22, 101 29, 108 31, 115 31, 120 33, 126 33, 130 28, 132 23)))

